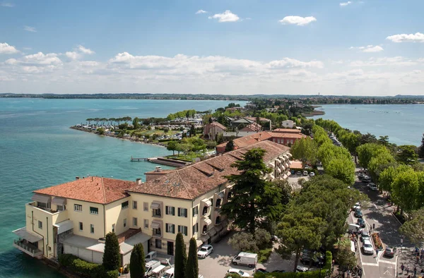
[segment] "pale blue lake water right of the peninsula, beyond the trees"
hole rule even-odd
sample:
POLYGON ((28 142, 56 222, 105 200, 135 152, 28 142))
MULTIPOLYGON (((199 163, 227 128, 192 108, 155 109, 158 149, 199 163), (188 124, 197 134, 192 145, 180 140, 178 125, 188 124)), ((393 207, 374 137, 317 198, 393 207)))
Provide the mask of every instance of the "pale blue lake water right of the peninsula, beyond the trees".
POLYGON ((424 133, 424 104, 329 104, 314 119, 331 119, 343 128, 377 136, 389 135, 389 141, 397 145, 421 144, 424 133))

